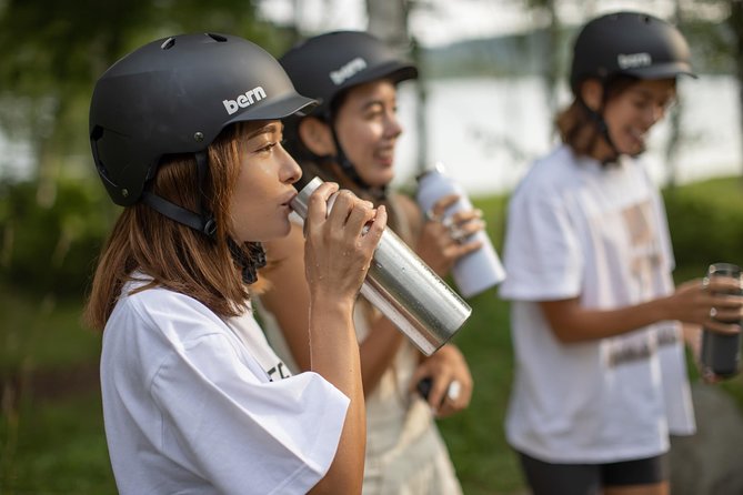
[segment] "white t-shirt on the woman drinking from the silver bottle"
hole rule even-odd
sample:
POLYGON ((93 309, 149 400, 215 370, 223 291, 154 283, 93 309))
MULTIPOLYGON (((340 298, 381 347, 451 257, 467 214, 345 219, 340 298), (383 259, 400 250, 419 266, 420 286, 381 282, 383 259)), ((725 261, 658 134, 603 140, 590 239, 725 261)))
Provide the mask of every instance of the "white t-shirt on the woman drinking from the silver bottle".
POLYGON ((183 294, 122 296, 103 333, 109 453, 122 494, 300 494, 328 472, 349 398, 291 376, 249 312, 183 294), (282 380, 283 378, 283 380, 282 380))

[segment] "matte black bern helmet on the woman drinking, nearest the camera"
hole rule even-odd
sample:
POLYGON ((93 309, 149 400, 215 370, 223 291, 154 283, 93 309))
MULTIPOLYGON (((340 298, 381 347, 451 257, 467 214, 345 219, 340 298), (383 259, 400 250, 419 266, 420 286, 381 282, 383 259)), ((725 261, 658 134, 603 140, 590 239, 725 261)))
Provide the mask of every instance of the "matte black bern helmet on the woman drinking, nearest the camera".
POLYGON ((205 150, 229 124, 289 117, 313 104, 278 61, 257 44, 227 34, 164 38, 125 55, 96 83, 90 144, 96 169, 114 203, 144 201, 160 213, 213 231, 203 214, 148 192, 160 159, 205 150))

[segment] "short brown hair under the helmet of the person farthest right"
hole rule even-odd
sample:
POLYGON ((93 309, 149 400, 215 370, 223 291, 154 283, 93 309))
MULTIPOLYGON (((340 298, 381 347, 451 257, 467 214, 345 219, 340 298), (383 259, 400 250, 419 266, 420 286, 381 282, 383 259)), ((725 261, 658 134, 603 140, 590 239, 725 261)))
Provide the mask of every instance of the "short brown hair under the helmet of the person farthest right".
MULTIPOLYGON (((603 83, 603 105, 636 82, 637 79, 627 75, 618 75, 605 81, 603 83)), ((582 83, 579 85, 579 91, 581 87, 582 83)), ((573 102, 558 114, 555 125, 562 142, 572 148, 579 156, 590 156, 600 140, 604 139, 599 129, 599 122, 591 115, 580 95, 576 95, 573 102)))

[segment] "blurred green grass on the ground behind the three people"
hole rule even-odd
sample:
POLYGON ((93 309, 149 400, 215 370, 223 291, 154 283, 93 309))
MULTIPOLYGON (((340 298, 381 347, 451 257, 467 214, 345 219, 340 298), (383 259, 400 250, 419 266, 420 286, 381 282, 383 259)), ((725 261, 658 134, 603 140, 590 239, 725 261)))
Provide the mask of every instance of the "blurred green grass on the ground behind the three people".
MULTIPOLYGON (((743 211, 737 181, 709 181, 679 192, 714 201, 732 194, 734 208, 743 211)), ((474 203, 500 248, 505 198, 474 203)), ((703 274, 703 267, 677 261, 679 281, 703 274)), ((470 304, 473 314, 454 342, 474 377, 472 403, 439 425, 464 493, 521 494, 518 461, 503 431, 513 372, 508 305, 495 290, 470 304)), ((34 299, 0 285, 0 494, 116 493, 98 388, 100 336, 82 329, 80 309, 79 300, 34 299)), ((743 408, 743 375, 721 386, 743 408)))

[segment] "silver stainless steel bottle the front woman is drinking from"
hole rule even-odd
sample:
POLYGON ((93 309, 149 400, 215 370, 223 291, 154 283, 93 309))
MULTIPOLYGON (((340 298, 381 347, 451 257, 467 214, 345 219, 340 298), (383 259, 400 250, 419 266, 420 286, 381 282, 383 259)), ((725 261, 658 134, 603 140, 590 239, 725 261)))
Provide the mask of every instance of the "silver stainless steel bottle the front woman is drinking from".
MULTIPOLYGON (((309 198, 322 184, 312 179, 291 202, 304 219, 309 198)), ((410 248, 385 229, 361 294, 392 321, 426 356, 445 344, 470 317, 472 309, 410 248)))

